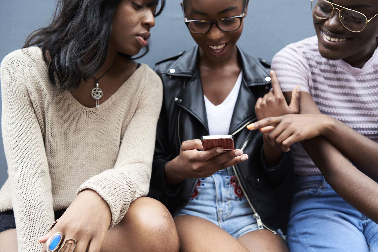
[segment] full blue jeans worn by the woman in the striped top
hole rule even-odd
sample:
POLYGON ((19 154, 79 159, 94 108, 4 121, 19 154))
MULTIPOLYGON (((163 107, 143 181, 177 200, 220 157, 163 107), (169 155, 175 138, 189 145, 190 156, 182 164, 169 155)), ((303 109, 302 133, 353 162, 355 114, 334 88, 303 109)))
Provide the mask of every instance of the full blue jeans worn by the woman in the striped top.
POLYGON ((321 175, 299 176, 287 229, 290 252, 378 252, 378 225, 321 175))

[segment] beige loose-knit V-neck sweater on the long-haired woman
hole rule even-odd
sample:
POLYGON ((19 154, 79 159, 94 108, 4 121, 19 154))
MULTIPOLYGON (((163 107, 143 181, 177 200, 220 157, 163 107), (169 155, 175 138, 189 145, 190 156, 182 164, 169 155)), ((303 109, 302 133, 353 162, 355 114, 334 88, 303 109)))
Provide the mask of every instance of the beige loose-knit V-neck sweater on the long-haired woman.
POLYGON ((0 67, 9 174, 0 212, 14 210, 19 251, 25 252, 41 251, 37 238, 48 231, 54 211, 83 189, 109 204, 110 228, 147 195, 163 93, 160 78, 141 65, 99 108, 87 108, 70 92, 57 92, 47 70, 37 47, 8 54, 0 67))

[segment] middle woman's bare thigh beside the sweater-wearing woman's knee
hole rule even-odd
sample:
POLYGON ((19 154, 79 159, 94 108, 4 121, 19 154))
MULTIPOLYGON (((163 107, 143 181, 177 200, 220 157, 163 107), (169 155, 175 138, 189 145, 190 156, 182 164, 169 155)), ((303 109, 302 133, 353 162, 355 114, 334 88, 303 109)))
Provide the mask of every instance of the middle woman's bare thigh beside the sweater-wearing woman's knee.
POLYGON ((211 221, 192 215, 174 218, 180 252, 248 252, 234 237, 211 221))

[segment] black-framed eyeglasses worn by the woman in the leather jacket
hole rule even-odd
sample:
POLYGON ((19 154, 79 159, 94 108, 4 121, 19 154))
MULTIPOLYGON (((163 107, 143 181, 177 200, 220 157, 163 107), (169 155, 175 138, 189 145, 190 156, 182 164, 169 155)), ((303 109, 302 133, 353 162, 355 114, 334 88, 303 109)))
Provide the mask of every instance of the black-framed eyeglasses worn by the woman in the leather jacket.
POLYGON ((184 12, 184 22, 192 33, 195 34, 202 34, 209 32, 211 29, 211 26, 216 24, 218 28, 221 31, 224 32, 229 32, 229 31, 236 31, 237 29, 240 28, 242 25, 243 18, 246 16, 245 14, 245 8, 247 6, 247 0, 244 2, 244 7, 242 14, 239 16, 233 16, 233 17, 225 17, 225 18, 220 18, 215 21, 210 21, 210 20, 187 20, 185 16, 185 7, 183 4, 183 12, 184 12))

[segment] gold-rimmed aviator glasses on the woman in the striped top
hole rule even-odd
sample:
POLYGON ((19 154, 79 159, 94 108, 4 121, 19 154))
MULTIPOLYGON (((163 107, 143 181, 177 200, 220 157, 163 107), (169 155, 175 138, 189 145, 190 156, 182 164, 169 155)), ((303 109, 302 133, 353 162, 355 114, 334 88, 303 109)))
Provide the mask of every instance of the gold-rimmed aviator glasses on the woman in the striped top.
POLYGON ((345 8, 341 5, 336 5, 328 0, 311 0, 311 9, 314 16, 319 19, 329 18, 335 12, 335 9, 337 9, 339 11, 339 18, 342 26, 351 32, 363 31, 366 28, 367 23, 378 16, 377 13, 374 17, 367 19, 366 15, 361 12, 345 8), (335 6, 340 8, 336 8, 335 6))

